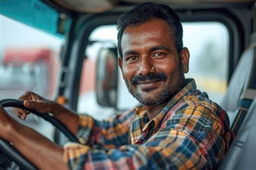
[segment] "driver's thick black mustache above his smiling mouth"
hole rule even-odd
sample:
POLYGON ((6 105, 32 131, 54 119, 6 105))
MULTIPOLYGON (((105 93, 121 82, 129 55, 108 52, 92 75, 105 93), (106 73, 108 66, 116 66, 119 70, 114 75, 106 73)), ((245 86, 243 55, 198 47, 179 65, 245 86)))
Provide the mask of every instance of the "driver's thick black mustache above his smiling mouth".
POLYGON ((146 80, 153 80, 153 79, 158 79, 158 80, 167 80, 167 75, 163 72, 156 73, 156 74, 149 74, 149 75, 139 75, 139 76, 134 76, 132 78, 131 84, 136 85, 138 84, 138 81, 146 81, 146 80))

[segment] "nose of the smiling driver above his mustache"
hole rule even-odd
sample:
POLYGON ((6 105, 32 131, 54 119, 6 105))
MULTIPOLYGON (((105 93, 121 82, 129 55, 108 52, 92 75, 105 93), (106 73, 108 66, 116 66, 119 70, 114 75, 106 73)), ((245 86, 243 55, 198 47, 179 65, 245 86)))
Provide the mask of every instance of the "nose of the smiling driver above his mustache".
POLYGON ((142 62, 140 63, 138 74, 145 76, 149 73, 154 73, 154 72, 156 72, 156 69, 153 66, 152 61, 146 57, 142 58, 142 62))

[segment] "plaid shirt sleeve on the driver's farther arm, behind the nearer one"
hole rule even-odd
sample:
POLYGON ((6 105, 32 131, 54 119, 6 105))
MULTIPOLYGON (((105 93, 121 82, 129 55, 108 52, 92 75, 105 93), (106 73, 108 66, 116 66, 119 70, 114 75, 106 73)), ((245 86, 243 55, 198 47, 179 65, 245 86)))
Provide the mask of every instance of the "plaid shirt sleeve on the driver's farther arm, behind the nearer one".
POLYGON ((101 145, 111 148, 128 145, 130 144, 128 134, 133 117, 133 110, 103 121, 95 120, 87 114, 80 114, 77 138, 81 144, 88 146, 101 145))

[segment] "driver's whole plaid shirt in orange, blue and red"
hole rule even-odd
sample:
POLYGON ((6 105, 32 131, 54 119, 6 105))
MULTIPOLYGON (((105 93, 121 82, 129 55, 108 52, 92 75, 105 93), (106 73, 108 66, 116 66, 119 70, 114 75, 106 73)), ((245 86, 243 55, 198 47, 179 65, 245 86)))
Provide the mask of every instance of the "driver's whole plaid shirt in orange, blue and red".
POLYGON ((187 83, 152 120, 140 104, 110 120, 79 115, 82 144, 64 146, 69 168, 217 168, 233 140, 227 114, 187 83))

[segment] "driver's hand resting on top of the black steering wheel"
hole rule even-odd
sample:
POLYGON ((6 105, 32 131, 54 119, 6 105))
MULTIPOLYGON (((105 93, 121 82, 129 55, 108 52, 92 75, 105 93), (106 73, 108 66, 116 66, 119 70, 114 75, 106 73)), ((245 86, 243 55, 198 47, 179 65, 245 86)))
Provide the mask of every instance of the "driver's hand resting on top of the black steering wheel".
MULTIPOLYGON (((27 91, 25 92, 19 99, 23 100, 23 105, 26 108, 35 109, 41 113, 49 113, 52 112, 52 107, 54 102, 48 99, 45 99, 39 96, 36 93, 27 91)), ((26 115, 29 114, 29 111, 22 110, 21 108, 14 108, 14 112, 18 118, 25 120, 26 115)))

